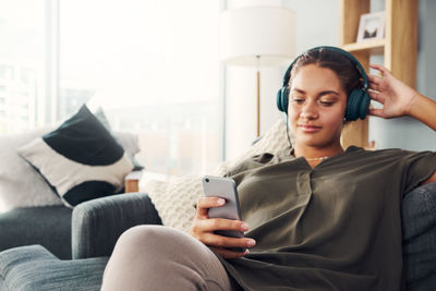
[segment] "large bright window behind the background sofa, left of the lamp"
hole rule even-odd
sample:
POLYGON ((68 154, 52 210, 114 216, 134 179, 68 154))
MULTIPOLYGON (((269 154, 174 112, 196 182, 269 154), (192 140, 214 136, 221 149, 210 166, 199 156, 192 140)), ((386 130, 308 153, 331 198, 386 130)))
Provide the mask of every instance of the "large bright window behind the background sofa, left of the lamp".
POLYGON ((112 130, 138 135, 146 170, 201 173, 221 160, 222 1, 0 1, 0 131, 92 101, 112 130))

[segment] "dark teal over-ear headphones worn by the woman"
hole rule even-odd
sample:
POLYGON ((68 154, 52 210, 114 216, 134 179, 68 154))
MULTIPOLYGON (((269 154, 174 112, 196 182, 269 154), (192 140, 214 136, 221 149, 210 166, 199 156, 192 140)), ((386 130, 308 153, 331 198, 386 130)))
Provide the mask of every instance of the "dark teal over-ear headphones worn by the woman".
MULTIPOLYGON (((365 70, 363 69, 362 64, 358 61, 358 59, 354 58, 353 54, 350 52, 337 48, 337 47, 328 47, 328 46, 323 46, 323 47, 316 47, 313 49, 307 50, 306 52, 313 51, 313 50, 319 50, 319 49, 326 49, 326 50, 331 50, 341 53, 343 57, 348 58, 358 69, 362 76, 362 83, 363 87, 362 88, 355 88, 353 89, 348 98, 347 98, 347 108, 346 108, 346 120, 356 120, 358 118, 365 119, 366 113, 370 108, 370 96, 367 94, 367 88, 368 88, 368 81, 367 76, 365 73, 365 70)), ((300 54, 299 57, 295 58, 295 60, 289 65, 288 70, 284 73, 283 77, 283 84, 282 87, 279 89, 277 93, 277 107, 280 111, 284 112, 288 114, 288 102, 289 102, 289 80, 291 77, 291 71, 293 64, 302 57, 304 53, 300 54)))

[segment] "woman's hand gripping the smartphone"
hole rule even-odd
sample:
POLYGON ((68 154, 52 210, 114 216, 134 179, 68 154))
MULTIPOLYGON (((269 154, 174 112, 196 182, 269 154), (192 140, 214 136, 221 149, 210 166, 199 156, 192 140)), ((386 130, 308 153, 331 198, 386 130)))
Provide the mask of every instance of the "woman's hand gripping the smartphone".
POLYGON ((223 218, 210 218, 207 211, 211 207, 221 207, 226 201, 219 197, 201 197, 197 202, 197 213, 194 218, 191 233, 198 241, 207 245, 211 251, 221 255, 225 258, 238 258, 246 255, 229 250, 230 247, 252 247, 255 245, 253 239, 242 238, 228 238, 216 234, 216 230, 235 230, 247 231, 249 225, 240 220, 231 220, 223 218))

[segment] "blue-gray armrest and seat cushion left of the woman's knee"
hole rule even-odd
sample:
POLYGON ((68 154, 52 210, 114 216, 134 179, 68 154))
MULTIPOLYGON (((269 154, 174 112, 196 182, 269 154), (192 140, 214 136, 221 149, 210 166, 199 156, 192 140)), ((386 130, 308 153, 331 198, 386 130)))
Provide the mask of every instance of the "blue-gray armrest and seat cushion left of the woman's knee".
POLYGON ((72 257, 61 260, 41 245, 1 252, 0 290, 99 290, 108 256, 122 232, 161 225, 147 194, 89 201, 72 214, 72 257))

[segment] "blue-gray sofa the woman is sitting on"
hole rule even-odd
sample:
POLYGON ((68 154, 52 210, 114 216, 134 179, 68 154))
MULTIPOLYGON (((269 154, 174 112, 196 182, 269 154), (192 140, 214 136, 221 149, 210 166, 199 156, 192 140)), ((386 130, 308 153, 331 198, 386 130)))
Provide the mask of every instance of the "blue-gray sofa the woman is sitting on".
MULTIPOLYGON (((435 290, 436 183, 408 193, 402 204, 407 290, 435 290), (421 239, 425 237, 426 244, 421 239)), ((72 257, 61 260, 41 245, 0 253, 0 291, 99 290, 117 239, 137 225, 161 225, 147 194, 89 201, 72 214, 72 257)), ((146 263, 144 263, 146 264, 146 263)))

